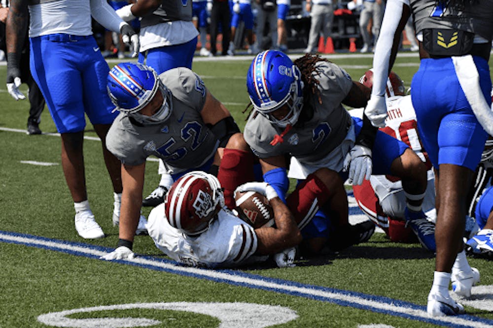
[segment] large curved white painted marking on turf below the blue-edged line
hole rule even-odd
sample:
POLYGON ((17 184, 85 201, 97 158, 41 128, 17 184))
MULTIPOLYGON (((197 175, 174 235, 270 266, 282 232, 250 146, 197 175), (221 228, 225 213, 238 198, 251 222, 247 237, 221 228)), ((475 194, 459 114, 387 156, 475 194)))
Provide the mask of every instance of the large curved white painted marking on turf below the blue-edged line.
POLYGON ((127 310, 127 309, 156 309, 186 311, 206 314, 220 320, 219 328, 262 328, 287 323, 298 318, 296 311, 279 305, 264 305, 254 303, 202 303, 202 302, 172 302, 172 303, 133 303, 105 306, 85 307, 60 312, 50 312, 37 317, 37 321, 53 327, 77 328, 120 328, 120 327, 149 327, 161 324, 160 321, 147 318, 88 318, 71 319, 68 315, 74 313, 127 310))

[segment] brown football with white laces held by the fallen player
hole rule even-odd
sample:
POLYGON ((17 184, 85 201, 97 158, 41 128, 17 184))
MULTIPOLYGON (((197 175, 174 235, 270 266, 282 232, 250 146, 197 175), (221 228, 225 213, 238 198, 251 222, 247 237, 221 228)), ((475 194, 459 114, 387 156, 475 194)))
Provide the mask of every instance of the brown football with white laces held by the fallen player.
POLYGON ((253 229, 274 225, 274 211, 265 196, 253 191, 237 192, 235 200, 238 216, 253 229))

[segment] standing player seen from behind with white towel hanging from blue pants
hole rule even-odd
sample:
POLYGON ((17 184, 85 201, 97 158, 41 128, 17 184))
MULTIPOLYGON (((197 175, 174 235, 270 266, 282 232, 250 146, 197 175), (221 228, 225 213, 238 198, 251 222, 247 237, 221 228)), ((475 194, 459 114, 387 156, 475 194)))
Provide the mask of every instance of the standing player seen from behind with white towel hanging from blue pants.
POLYGON ((427 311, 431 316, 455 315, 464 307, 449 295, 451 278, 463 278, 462 295, 470 295, 475 281, 462 241, 464 204, 487 136, 493 135, 488 65, 493 0, 387 1, 373 59, 372 95, 365 109, 375 126, 382 126, 387 117, 383 95, 397 53, 395 36, 411 14, 421 59, 411 99, 437 181, 436 261, 427 311))

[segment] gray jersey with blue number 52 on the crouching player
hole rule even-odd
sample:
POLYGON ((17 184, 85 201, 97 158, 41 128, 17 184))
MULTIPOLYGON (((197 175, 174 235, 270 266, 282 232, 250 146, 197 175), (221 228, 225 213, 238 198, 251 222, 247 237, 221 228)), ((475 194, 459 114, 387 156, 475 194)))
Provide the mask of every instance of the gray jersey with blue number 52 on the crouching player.
POLYGON ((204 82, 185 67, 167 70, 159 78, 173 93, 170 117, 141 125, 120 113, 106 136, 107 148, 124 164, 139 165, 155 155, 173 173, 199 167, 214 155, 219 142, 200 115, 206 100, 204 82))

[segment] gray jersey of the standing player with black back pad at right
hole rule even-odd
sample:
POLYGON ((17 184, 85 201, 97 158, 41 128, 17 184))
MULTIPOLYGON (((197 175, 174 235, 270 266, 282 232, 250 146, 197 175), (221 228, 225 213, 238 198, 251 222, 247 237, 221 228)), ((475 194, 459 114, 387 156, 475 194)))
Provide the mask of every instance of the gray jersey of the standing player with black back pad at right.
MULTIPOLYGON (((467 2, 467 1, 466 1, 467 2)), ((416 33, 444 28, 472 32, 487 40, 493 34, 493 0, 471 1, 463 6, 437 7, 435 0, 410 0, 416 33)))

